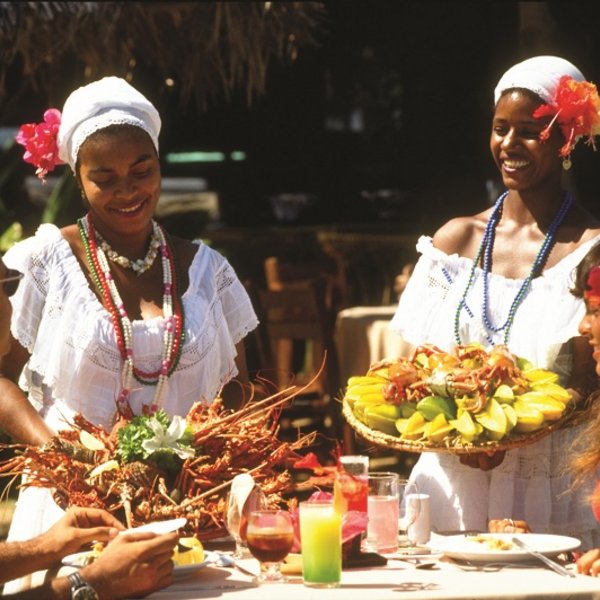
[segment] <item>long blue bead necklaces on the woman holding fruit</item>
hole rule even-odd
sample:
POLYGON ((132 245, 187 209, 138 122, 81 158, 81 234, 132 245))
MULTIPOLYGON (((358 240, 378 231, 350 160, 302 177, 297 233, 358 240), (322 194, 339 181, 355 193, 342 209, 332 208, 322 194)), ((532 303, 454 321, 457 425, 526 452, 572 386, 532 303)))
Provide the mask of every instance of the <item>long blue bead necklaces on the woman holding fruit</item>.
POLYGON ((495 234, 496 234, 496 226, 498 225, 498 223, 500 222, 500 219, 502 217, 502 207, 504 205, 504 200, 506 199, 507 195, 508 195, 508 192, 504 192, 504 194, 502 194, 498 198, 498 200, 496 200, 494 209, 492 210, 492 214, 490 215, 490 218, 485 226, 483 238, 481 240, 481 245, 479 246, 477 255, 473 259, 473 265, 471 267, 471 272, 469 273, 469 279, 467 280, 467 285, 465 287, 465 291, 463 292, 463 295, 462 295, 462 297, 458 303, 458 306, 456 308, 456 314, 454 316, 454 339, 456 340, 457 344, 461 343, 460 314, 461 314, 463 308, 467 311, 467 313, 469 314, 469 316, 471 318, 474 317, 472 311, 467 306, 466 298, 467 298, 467 294, 469 293, 469 290, 473 287, 473 283, 475 281, 475 271, 476 271, 478 265, 481 264, 482 260, 483 260, 483 265, 482 265, 483 306, 482 306, 482 310, 481 310, 481 313, 482 313, 481 320, 486 329, 486 339, 491 345, 494 345, 495 343, 492 339, 492 335, 490 335, 487 332, 491 332, 492 334, 494 334, 494 333, 500 333, 503 331, 504 335, 503 335, 502 343, 504 343, 504 344, 508 343, 508 339, 510 337, 510 330, 512 328, 517 309, 519 308, 519 306, 525 299, 525 296, 527 296, 527 293, 529 292, 533 278, 536 277, 536 275, 539 274, 543 270, 544 265, 546 264, 546 261, 548 260, 548 256, 550 255, 550 252, 552 250, 552 247, 554 246, 554 242, 556 241, 555 240, 556 232, 557 232, 558 228, 560 227, 560 224, 562 223, 563 219, 565 218, 567 212, 571 208, 571 205, 573 204, 573 199, 572 199, 571 195, 567 194, 560 206, 560 209, 558 210, 558 213, 556 214, 556 216, 554 217, 554 220, 552 221, 552 223, 550 224, 550 227, 548 228, 548 232, 546 233, 546 236, 544 237, 544 241, 542 242, 542 245, 540 246, 540 249, 533 261, 533 264, 531 265, 531 269, 529 270, 527 277, 523 280, 523 283, 517 290, 517 293, 510 305, 510 308, 508 309, 508 315, 506 317, 506 321, 504 321, 504 323, 502 325, 496 326, 492 323, 492 320, 489 316, 489 306, 490 306, 489 275, 490 275, 491 266, 492 266, 492 252, 494 249, 494 238, 495 238, 495 234))

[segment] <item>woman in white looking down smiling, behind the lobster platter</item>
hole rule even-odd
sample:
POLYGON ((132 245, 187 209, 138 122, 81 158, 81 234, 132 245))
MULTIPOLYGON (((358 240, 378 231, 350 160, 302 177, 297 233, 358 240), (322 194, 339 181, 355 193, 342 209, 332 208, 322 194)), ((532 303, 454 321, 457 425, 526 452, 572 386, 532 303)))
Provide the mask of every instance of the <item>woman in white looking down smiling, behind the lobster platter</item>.
MULTIPOLYGON (((0 364, 0 428, 16 441, 43 444, 75 413, 106 428, 117 408, 185 415, 232 378, 247 381, 242 340, 257 318, 244 287, 224 257, 152 218, 160 125, 141 93, 107 77, 75 90, 62 115, 21 128, 25 160, 42 176, 67 162, 89 211, 63 229, 40 226, 4 257, 24 274, 0 364)), ((240 386, 229 387, 234 402, 240 386)), ((9 540, 61 514, 47 491, 25 490, 9 540)))

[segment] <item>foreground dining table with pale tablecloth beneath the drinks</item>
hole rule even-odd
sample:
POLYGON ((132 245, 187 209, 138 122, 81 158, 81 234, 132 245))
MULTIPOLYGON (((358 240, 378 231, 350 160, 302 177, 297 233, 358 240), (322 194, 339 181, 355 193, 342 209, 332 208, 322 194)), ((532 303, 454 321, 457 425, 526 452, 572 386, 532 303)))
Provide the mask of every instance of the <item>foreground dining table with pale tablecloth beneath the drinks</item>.
MULTIPOLYGON (((243 561, 257 569, 253 559, 243 561)), ((570 568, 574 565, 570 565, 570 568)), ((235 600, 501 600, 595 599, 600 600, 600 580, 578 575, 563 577, 544 567, 524 563, 483 571, 459 567, 442 559, 433 570, 415 569, 400 560, 386 567, 344 570, 337 589, 305 587, 300 576, 288 584, 268 584, 260 588, 251 577, 236 569, 208 566, 185 577, 177 577, 168 588, 148 596, 151 600, 192 600, 226 598, 235 600), (463 568, 470 570, 463 570, 463 568)))

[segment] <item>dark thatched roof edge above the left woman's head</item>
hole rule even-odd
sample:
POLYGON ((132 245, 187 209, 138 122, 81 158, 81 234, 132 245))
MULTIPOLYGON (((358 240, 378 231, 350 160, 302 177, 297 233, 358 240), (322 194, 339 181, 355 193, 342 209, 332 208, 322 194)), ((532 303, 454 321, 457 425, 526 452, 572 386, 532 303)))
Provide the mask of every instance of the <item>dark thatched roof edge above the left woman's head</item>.
POLYGON ((0 104, 152 70, 182 104, 264 92, 273 60, 318 43, 320 2, 0 2, 0 104))

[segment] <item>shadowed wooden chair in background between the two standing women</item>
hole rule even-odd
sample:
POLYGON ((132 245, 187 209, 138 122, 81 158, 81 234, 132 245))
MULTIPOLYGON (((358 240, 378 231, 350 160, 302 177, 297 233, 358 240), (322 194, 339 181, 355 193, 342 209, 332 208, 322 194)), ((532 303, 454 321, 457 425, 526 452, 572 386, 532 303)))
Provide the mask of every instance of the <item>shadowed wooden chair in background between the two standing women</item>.
POLYGON ((258 290, 258 297, 260 327, 269 341, 264 377, 272 376, 279 388, 305 385, 315 378, 325 359, 320 376, 283 410, 282 437, 319 430, 333 445, 342 431, 343 418, 337 401, 339 367, 323 281, 315 279, 297 289, 258 290))

